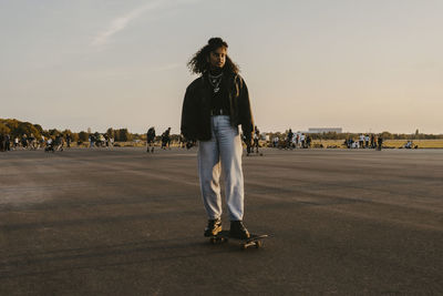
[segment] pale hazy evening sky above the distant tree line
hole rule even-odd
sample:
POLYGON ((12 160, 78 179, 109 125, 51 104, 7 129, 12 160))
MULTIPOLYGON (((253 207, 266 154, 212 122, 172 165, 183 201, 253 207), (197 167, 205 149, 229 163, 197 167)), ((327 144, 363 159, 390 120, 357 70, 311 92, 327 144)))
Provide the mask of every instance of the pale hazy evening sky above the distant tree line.
POLYGON ((0 0, 0 118, 179 133, 212 37, 259 130, 443 133, 441 0, 0 0))

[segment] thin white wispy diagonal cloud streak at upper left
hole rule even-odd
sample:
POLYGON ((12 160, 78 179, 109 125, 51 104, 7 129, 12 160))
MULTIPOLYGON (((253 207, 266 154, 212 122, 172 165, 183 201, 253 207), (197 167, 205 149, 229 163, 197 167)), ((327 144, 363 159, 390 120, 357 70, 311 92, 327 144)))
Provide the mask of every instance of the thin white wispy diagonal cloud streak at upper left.
POLYGON ((107 40, 111 37, 116 34, 117 32, 124 30, 131 21, 140 18, 144 12, 146 12, 148 10, 154 10, 154 9, 161 8, 162 3, 164 6, 165 1, 164 2, 162 2, 162 1, 151 2, 143 7, 132 10, 131 12, 126 13, 123 17, 112 20, 109 28, 106 30, 104 30, 103 32, 100 32, 94 38, 91 45, 95 47, 95 48, 100 48, 100 47, 106 44, 107 40))

